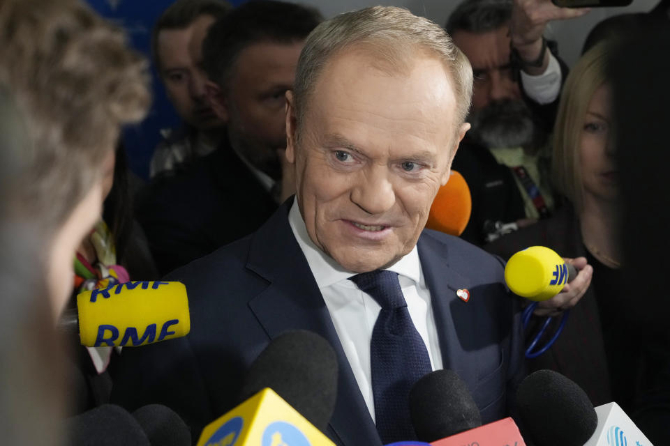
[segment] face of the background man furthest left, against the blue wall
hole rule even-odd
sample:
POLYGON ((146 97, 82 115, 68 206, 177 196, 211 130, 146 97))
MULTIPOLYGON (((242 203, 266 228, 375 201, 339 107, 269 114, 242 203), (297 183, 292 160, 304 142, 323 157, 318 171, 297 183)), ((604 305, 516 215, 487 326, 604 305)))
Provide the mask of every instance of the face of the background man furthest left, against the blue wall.
POLYGON ((211 15, 198 17, 186 29, 163 29, 158 33, 158 67, 170 102, 177 114, 199 130, 223 123, 212 112, 205 95, 207 75, 202 69, 202 40, 214 23, 211 15))

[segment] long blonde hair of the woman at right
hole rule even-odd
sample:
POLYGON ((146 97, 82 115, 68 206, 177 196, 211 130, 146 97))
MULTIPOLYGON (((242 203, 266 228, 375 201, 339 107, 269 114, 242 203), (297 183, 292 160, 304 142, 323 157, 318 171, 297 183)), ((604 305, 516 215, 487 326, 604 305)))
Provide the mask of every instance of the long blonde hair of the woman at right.
POLYGON ((607 77, 608 43, 600 43, 586 52, 570 71, 558 105, 553 127, 553 182, 580 210, 583 201, 581 132, 593 93, 609 81, 607 77))

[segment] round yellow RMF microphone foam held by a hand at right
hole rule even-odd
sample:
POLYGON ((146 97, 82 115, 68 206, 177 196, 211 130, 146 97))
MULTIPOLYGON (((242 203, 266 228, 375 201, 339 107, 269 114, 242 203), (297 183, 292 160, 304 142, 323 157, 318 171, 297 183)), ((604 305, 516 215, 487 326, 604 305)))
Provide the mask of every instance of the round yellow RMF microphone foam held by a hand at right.
POLYGON ((509 289, 536 302, 553 298, 575 276, 574 266, 544 246, 531 246, 517 252, 505 266, 509 289))

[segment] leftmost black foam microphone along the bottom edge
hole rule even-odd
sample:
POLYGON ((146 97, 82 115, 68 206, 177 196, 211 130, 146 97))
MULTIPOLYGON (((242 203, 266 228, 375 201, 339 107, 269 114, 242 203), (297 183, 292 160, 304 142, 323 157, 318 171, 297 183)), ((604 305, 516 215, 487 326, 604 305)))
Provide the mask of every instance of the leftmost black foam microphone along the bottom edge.
POLYGON ((66 420, 70 446, 151 446, 133 415, 121 406, 103 404, 66 420))

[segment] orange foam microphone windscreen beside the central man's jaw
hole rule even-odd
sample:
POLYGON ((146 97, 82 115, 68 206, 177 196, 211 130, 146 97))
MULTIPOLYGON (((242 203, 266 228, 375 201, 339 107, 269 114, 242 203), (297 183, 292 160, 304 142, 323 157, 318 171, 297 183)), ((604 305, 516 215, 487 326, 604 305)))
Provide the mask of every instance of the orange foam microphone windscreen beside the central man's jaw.
POLYGON ((468 225, 471 212, 472 197, 468 183, 461 174, 452 170, 447 184, 440 187, 435 195, 426 228, 460 236, 468 225))

